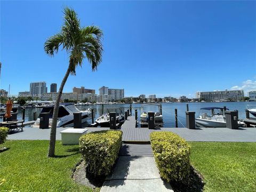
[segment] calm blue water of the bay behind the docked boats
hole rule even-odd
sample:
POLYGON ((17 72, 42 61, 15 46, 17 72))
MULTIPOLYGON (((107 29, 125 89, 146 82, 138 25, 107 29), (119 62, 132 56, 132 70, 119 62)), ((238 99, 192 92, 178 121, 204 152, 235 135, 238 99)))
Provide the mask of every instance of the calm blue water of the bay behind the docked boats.
MULTIPOLYGON (((174 109, 178 109, 178 126, 186 126, 186 104, 187 103, 162 103, 162 113, 164 119, 164 127, 175 127, 175 117, 174 109)), ((245 118, 245 109, 246 105, 256 105, 256 102, 195 102, 188 103, 189 110, 196 112, 196 117, 198 116, 199 110, 202 107, 223 107, 226 106, 229 110, 238 110, 239 118, 245 118)), ((102 105, 90 105, 90 106, 77 106, 78 109, 85 110, 87 108, 94 109, 94 122, 102 114, 102 105)), ((130 109, 130 104, 114 104, 114 105, 104 105, 103 113, 114 112, 124 113, 125 110, 130 109)), ((132 104, 132 114, 134 115, 134 110, 137 109, 138 117, 141 114, 141 104, 132 104)), ((33 120, 34 111, 37 112, 37 115, 41 112, 42 108, 30 108, 26 109, 26 121, 33 120)), ((143 108, 143 111, 158 111, 157 106, 146 106, 143 108)), ((22 109, 18 110, 18 119, 22 118, 22 109)), ((91 118, 87 120, 91 124, 91 118)), ((86 126, 86 125, 85 125, 86 126)))

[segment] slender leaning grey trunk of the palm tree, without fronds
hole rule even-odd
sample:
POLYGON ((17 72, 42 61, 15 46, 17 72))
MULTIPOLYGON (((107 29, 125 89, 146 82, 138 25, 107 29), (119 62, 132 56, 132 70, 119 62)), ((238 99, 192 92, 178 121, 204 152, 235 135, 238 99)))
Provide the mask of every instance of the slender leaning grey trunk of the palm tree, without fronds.
POLYGON ((59 106, 60 106, 60 98, 61 98, 61 94, 63 91, 63 87, 68 79, 69 74, 70 74, 70 65, 68 66, 68 70, 67 70, 64 78, 62 79, 58 97, 57 97, 57 100, 55 102, 54 109, 53 109, 48 157, 55 156, 56 127, 57 127, 57 118, 58 118, 58 112, 59 112, 59 106))

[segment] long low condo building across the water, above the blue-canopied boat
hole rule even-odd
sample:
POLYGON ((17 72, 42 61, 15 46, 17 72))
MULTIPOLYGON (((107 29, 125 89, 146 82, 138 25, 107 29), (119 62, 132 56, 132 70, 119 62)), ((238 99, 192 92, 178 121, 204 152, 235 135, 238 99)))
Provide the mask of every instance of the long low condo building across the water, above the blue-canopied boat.
POLYGON ((243 97, 243 90, 196 92, 196 98, 204 101, 238 101, 243 97))

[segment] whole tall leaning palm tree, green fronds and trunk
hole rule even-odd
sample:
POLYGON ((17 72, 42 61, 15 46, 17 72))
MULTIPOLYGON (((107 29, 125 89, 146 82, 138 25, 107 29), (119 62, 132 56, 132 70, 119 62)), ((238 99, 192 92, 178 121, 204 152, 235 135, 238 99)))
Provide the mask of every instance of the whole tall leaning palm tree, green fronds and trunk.
POLYGON ((44 50, 50 56, 57 53, 60 46, 62 46, 62 50, 66 50, 69 54, 68 69, 62 79, 58 97, 54 105, 48 157, 53 157, 55 154, 56 126, 60 98, 69 74, 76 74, 76 67, 82 67, 84 58, 87 58, 92 66, 92 70, 96 70, 101 62, 103 51, 101 44, 103 34, 100 28, 96 26, 80 27, 80 21, 73 9, 65 7, 63 13, 64 23, 60 33, 47 39, 44 44, 44 50))

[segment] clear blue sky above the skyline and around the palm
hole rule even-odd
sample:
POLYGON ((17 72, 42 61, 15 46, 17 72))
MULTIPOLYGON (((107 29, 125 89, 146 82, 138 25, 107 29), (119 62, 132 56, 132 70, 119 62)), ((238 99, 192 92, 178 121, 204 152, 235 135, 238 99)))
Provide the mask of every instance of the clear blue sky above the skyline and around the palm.
POLYGON ((87 60, 69 76, 73 86, 105 85, 125 96, 187 95, 196 91, 256 89, 256 2, 253 1, 1 1, 1 89, 29 90, 30 82, 61 83, 68 55, 51 58, 46 39, 60 31, 63 6, 81 25, 104 33, 103 60, 87 60))

